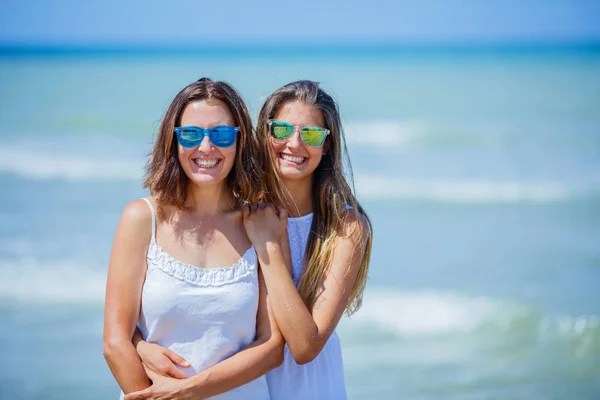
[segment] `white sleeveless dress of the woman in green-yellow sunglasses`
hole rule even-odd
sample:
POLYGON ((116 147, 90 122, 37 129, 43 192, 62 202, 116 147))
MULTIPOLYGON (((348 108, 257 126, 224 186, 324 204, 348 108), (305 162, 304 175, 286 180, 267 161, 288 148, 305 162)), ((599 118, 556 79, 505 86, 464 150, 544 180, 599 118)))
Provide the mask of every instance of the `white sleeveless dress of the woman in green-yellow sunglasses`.
MULTIPOLYGON (((288 236, 292 256, 292 277, 298 285, 302 261, 312 224, 312 214, 288 218, 288 236)), ((319 355, 311 362, 298 365, 288 346, 284 362, 267 372, 272 400, 344 400, 344 366, 342 348, 336 331, 330 336, 319 355)))

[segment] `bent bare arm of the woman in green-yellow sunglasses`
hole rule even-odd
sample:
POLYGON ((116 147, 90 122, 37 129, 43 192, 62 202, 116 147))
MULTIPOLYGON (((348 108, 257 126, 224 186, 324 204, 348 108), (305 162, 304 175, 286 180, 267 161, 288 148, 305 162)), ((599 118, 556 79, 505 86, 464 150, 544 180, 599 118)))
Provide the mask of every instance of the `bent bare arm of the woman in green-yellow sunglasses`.
MULTIPOLYGON (((257 210, 254 218, 272 218, 268 209, 257 210)), ((252 218, 252 217, 251 217, 252 218)), ((265 230, 265 227, 258 229, 265 230)), ((361 232, 364 221, 354 219, 346 227, 346 235, 334 243, 334 254, 315 304, 307 308, 289 275, 285 249, 277 240, 253 241, 263 268, 273 314, 279 329, 298 364, 312 361, 323 349, 339 323, 365 251, 361 232)), ((250 235, 249 235, 250 236, 250 235)), ((251 238, 252 239, 252 238, 251 238)))

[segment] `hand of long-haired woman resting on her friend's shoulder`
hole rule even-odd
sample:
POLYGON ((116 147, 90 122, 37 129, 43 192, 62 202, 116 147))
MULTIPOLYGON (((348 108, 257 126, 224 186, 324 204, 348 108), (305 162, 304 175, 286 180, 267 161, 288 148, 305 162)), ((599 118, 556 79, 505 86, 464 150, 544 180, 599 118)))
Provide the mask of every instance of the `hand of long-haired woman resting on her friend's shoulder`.
POLYGON ((280 243, 286 234, 288 213, 271 203, 244 207, 242 218, 248 239, 255 247, 280 243))

